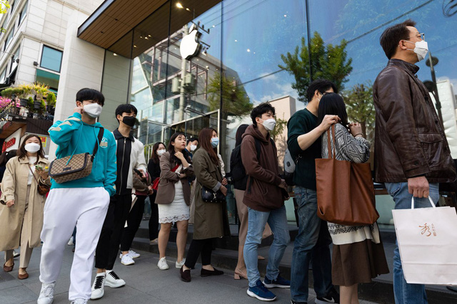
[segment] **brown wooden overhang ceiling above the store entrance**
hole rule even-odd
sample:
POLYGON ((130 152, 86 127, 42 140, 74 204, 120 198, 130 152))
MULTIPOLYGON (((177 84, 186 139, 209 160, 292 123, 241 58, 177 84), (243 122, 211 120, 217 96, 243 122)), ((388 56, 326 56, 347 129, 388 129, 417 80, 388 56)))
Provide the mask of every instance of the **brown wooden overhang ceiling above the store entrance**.
MULTIPOLYGON (((78 37, 127 58, 135 58, 220 0, 182 0, 195 13, 171 7, 169 0, 106 0, 78 28, 78 37), (132 32, 134 41, 132 44, 132 32), (148 39, 140 36, 151 35, 148 39), (136 47, 134 47, 136 46, 136 47)), ((175 3, 175 2, 174 2, 175 3)))

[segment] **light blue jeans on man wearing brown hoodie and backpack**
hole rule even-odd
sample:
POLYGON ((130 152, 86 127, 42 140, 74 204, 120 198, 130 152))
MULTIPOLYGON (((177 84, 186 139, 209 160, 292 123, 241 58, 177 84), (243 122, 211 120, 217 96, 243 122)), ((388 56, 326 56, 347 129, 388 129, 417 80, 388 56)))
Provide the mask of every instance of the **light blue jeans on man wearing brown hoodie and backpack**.
POLYGON ((263 229, 268 222, 273 231, 273 243, 268 251, 268 265, 266 276, 270 280, 276 280, 279 275, 279 263, 283 258, 284 251, 291 237, 288 234, 286 206, 267 212, 248 208, 248 235, 244 243, 244 263, 248 273, 249 286, 256 286, 260 280, 258 272, 257 248, 262 241, 263 229))

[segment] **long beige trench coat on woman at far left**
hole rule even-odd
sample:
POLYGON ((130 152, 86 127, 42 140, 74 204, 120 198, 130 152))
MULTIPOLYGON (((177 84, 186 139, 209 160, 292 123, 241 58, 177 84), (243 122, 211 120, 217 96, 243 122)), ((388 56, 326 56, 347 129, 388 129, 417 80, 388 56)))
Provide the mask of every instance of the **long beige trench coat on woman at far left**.
MULTIPOLYGON (((39 159, 41 167, 49 166, 47 159, 39 159)), ((26 218, 27 180, 29 178, 29 159, 13 157, 6 164, 6 170, 1 181, 0 201, 0 251, 16 249, 19 247, 21 229, 27 229, 29 246, 38 247, 41 243, 40 234, 43 228, 43 210, 46 197, 37 190, 36 179, 32 178, 29 194, 29 206, 26 218), (14 199, 14 205, 7 207, 6 201, 14 199)), ((39 175, 35 173, 39 178, 39 175)), ((45 181, 50 184, 49 178, 45 181)))

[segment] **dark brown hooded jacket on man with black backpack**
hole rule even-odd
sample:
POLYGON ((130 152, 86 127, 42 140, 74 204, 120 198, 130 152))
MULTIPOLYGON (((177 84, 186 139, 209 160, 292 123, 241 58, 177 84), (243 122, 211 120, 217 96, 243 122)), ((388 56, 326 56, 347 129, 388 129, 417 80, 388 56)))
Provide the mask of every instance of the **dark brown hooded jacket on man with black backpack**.
POLYGON ((268 133, 265 138, 258 128, 250 125, 243 134, 241 161, 249 176, 243 203, 257 211, 281 208, 284 197, 279 188, 281 177, 279 177, 278 152, 270 140, 270 134, 268 133), (257 159, 254 137, 261 142, 259 159, 257 159), (251 189, 249 189, 250 186, 251 189))

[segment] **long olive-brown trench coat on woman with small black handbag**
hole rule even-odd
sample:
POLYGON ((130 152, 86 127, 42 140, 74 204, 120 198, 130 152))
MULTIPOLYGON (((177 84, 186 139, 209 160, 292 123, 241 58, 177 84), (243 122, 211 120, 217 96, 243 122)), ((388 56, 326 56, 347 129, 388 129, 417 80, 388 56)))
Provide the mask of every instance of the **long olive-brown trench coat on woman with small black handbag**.
POLYGON ((201 199, 201 185, 209 189, 219 189, 222 182, 220 165, 211 162, 209 153, 200 148, 192 157, 196 182, 194 209, 194 239, 211 239, 230 236, 229 218, 226 204, 206 203, 201 199))

